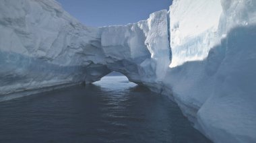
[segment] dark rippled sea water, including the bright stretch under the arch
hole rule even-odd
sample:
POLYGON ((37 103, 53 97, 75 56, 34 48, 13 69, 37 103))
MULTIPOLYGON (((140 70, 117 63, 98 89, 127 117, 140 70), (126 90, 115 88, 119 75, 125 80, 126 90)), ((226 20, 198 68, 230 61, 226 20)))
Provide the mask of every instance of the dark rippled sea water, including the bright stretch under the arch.
POLYGON ((0 102, 0 142, 210 142, 168 97, 104 77, 0 102))

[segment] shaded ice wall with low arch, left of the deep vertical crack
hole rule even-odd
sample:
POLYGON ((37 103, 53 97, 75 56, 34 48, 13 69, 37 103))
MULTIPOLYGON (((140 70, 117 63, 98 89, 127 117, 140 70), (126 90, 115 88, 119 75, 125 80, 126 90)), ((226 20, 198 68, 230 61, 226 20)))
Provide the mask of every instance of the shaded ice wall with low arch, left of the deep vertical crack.
POLYGON ((155 87, 170 64, 166 10, 126 26, 88 28, 52 0, 3 1, 0 7, 3 100, 92 83, 111 71, 155 87))

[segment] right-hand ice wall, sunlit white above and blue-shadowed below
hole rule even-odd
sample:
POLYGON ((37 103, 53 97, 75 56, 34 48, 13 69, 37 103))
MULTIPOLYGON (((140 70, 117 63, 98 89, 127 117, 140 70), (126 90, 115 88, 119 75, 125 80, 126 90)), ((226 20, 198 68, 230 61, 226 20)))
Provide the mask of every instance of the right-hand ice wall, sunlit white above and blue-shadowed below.
POLYGON ((256 141, 255 3, 177 0, 170 7, 172 63, 163 93, 172 91, 214 142, 256 141))

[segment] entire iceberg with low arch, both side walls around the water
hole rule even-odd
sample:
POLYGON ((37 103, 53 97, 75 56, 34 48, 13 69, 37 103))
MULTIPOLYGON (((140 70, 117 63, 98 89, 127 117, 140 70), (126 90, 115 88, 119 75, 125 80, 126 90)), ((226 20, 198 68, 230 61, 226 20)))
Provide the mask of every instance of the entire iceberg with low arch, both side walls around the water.
POLYGON ((52 0, 0 7, 1 100, 115 70, 168 95, 214 142, 256 141, 256 1, 176 0, 148 20, 103 28, 52 0))

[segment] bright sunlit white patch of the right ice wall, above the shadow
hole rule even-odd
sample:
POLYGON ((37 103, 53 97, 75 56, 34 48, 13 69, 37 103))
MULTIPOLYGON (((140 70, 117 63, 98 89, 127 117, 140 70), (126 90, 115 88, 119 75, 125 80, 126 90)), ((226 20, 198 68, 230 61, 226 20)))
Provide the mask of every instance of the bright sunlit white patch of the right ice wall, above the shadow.
POLYGON ((203 60, 216 44, 220 0, 173 1, 170 6, 171 67, 203 60))

